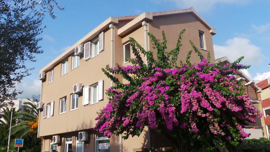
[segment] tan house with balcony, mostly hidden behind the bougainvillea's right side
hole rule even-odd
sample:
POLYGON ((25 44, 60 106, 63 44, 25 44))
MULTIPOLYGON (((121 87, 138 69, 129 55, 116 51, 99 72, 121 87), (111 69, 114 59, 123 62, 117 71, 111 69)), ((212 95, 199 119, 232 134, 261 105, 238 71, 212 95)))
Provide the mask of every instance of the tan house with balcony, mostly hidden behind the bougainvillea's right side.
MULTIPOLYGON (((222 57, 216 60, 216 62, 221 61, 224 63, 232 63, 228 57, 222 57)), ((242 74, 237 75, 236 78, 244 78, 245 80, 243 81, 243 84, 246 84, 250 81, 252 81, 247 75, 245 75, 243 72, 242 74)), ((261 88, 259 88, 256 84, 251 84, 249 86, 243 86, 248 95, 250 100, 252 101, 253 105, 255 108, 257 108, 258 110, 262 111, 261 107, 261 97, 260 97, 260 92, 262 91, 261 88)), ((254 115, 253 115, 254 116, 254 115)), ((254 116, 256 117, 256 116, 254 116)), ((256 123, 249 123, 249 125, 245 126, 245 132, 246 133, 250 133, 250 136, 248 137, 248 139, 259 139, 260 137, 266 137, 266 132, 265 132, 265 124, 264 124, 264 120, 263 118, 259 118, 256 117, 256 123)))

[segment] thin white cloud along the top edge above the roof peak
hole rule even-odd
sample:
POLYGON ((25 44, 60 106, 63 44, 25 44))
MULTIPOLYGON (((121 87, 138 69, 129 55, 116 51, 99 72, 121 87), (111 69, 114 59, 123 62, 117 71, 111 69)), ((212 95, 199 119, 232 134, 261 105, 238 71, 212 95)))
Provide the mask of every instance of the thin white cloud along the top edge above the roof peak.
POLYGON ((252 0, 152 0, 156 3, 165 2, 173 2, 179 8, 189 8, 191 6, 198 12, 201 11, 209 11, 218 3, 225 3, 225 4, 240 4, 245 5, 250 3, 252 0))

